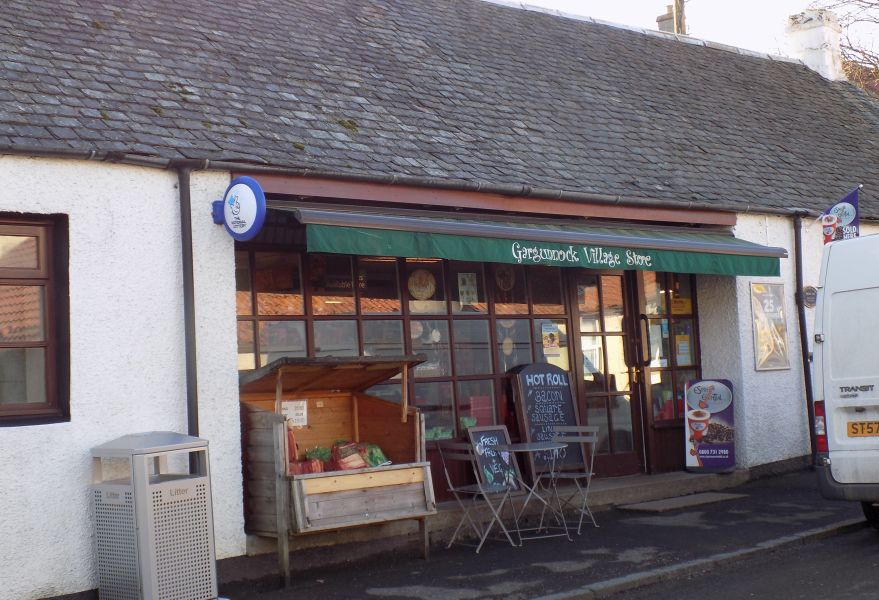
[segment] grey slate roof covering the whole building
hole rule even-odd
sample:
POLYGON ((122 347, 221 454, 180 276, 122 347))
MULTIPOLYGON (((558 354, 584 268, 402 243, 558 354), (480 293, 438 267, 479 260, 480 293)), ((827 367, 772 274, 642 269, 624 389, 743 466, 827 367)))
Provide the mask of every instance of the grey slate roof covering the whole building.
POLYGON ((879 108, 788 61, 480 0, 5 0, 0 151, 879 217, 879 108))

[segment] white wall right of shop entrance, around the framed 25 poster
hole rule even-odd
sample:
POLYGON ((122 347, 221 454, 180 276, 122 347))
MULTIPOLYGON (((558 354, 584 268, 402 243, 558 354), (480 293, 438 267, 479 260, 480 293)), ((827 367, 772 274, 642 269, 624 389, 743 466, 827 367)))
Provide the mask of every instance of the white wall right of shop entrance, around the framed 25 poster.
MULTIPOLYGON (((698 278, 699 329, 703 375, 730 379, 735 393, 736 453, 739 467, 803 456, 810 452, 808 413, 801 357, 799 319, 794 298, 796 263, 793 218, 739 215, 736 237, 786 248, 780 277, 698 278), (757 371, 751 311, 752 282, 784 284, 784 311, 790 369, 757 371)), ((861 234, 879 232, 862 226, 861 234)), ((824 246, 821 226, 804 218, 803 285, 817 286, 824 246)), ((814 309, 806 309, 807 339, 812 339, 814 309)))

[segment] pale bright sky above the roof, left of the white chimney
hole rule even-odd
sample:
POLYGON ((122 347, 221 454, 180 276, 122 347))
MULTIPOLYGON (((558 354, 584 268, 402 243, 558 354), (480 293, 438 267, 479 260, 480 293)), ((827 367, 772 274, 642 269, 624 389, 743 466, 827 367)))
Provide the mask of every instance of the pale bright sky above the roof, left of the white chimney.
MULTIPOLYGON (((646 29, 656 29, 656 17, 671 0, 524 0, 562 12, 586 15, 646 29)), ((784 29, 787 18, 802 12, 809 0, 687 0, 687 33, 693 37, 788 55, 784 29)))

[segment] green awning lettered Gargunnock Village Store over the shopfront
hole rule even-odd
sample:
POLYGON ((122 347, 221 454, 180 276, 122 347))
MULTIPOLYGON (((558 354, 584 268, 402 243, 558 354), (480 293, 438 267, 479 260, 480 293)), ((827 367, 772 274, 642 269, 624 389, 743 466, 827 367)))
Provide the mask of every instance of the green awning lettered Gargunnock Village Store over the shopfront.
POLYGON ((270 208, 292 211, 305 225, 309 252, 756 276, 779 275, 779 259, 787 257, 784 248, 761 246, 719 230, 305 208, 276 202, 270 208))

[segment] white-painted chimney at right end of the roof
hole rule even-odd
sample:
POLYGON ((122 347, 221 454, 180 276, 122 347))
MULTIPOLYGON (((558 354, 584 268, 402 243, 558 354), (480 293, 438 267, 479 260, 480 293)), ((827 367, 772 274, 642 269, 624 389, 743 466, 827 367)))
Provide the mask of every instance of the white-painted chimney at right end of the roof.
POLYGON ((787 20, 788 46, 794 57, 825 79, 844 81, 839 38, 842 30, 836 15, 826 9, 810 9, 787 20))

